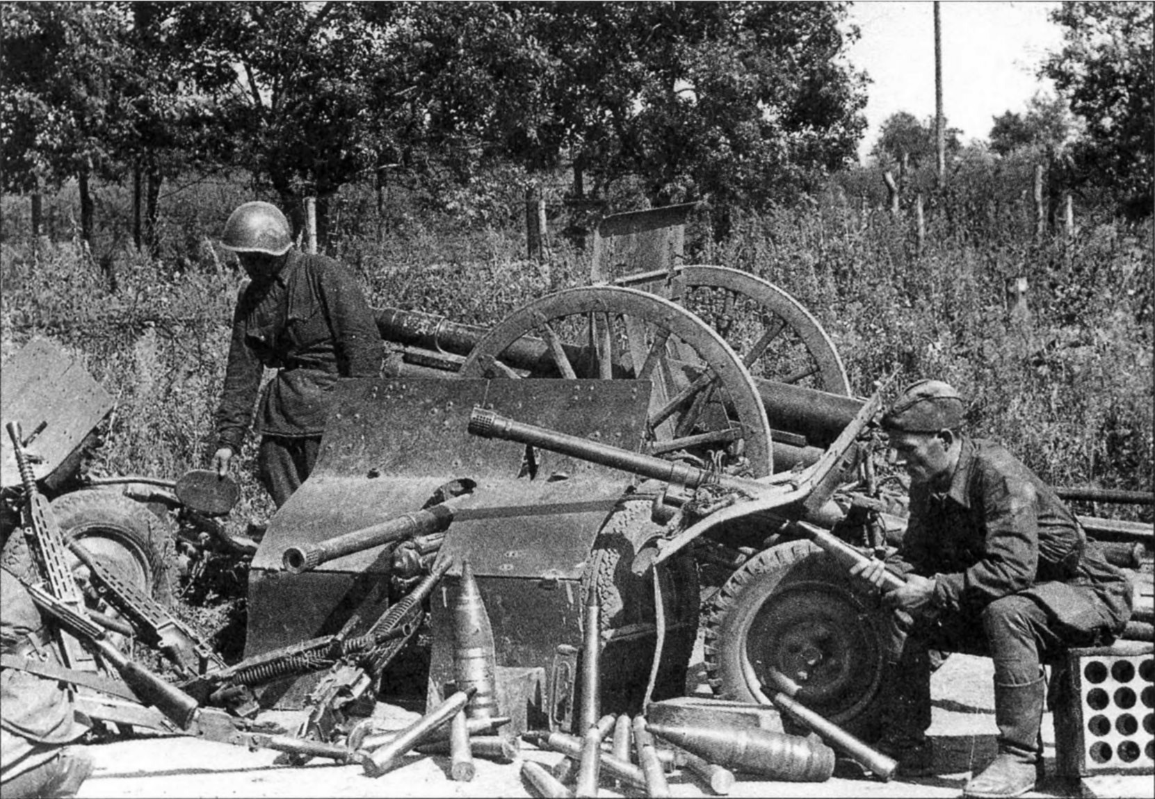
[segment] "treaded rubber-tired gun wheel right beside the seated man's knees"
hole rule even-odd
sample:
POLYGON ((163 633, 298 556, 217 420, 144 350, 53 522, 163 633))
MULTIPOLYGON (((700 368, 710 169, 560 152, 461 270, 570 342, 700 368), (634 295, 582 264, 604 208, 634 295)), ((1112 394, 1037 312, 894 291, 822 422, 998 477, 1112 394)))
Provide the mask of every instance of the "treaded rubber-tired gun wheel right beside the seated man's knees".
MULTIPOLYGON (((799 682, 803 688, 795 699, 873 740, 881 714, 885 618, 877 603, 857 592, 845 568, 814 544, 778 544, 744 563, 715 595, 706 620, 707 679, 720 699, 765 704, 765 692, 752 688, 746 678, 747 648, 755 652, 755 662, 774 660, 775 667, 795 678, 799 662, 791 658, 799 656, 791 648, 798 641, 818 641, 824 656, 833 657, 814 670, 814 682, 799 682), (849 618, 854 620, 847 625, 849 618), (761 645, 751 641, 755 625, 774 630, 772 640, 761 645), (834 634, 819 637, 825 635, 822 627, 834 634)), ((765 679, 765 670, 755 674, 765 679)), ((783 725, 788 732, 808 732, 785 717, 783 725)))

